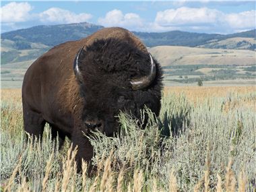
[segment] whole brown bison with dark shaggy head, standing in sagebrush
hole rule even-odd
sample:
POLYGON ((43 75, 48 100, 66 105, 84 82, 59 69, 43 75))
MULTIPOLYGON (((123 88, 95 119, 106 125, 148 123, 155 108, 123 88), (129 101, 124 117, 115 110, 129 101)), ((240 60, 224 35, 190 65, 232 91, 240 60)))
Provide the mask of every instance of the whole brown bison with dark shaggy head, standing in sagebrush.
POLYGON ((146 46, 123 28, 104 28, 81 40, 59 44, 26 71, 22 86, 24 130, 42 137, 45 123, 59 145, 77 146, 77 167, 90 161, 84 135, 119 131, 121 110, 139 118, 147 106, 159 114, 162 70, 146 46), (84 133, 83 133, 84 132, 84 133))

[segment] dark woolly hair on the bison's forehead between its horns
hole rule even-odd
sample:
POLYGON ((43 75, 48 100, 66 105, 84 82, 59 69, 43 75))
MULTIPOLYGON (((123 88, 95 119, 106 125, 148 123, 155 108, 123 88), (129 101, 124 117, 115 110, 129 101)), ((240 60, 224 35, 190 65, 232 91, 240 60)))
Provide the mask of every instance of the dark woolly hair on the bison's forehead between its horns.
MULTIPOLYGON (((116 38, 95 40, 86 46, 80 63, 82 74, 87 81, 97 82, 97 78, 104 79, 106 76, 117 82, 117 85, 121 82, 127 85, 134 77, 148 75, 151 67, 148 53, 116 38)), ((155 82, 161 82, 162 70, 156 60, 155 63, 158 69, 155 82)), ((152 86, 154 84, 156 83, 152 86)))

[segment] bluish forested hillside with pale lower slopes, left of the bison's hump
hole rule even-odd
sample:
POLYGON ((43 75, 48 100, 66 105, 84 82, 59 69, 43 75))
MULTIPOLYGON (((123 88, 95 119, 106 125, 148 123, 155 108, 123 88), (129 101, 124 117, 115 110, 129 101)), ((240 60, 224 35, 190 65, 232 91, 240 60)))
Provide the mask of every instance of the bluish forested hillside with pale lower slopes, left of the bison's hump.
POLYGON ((57 44, 84 38, 101 28, 85 22, 5 32, 1 34, 1 65, 36 59, 57 44))

